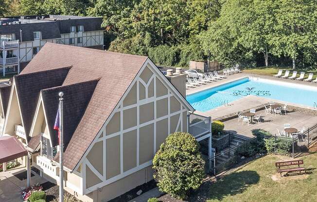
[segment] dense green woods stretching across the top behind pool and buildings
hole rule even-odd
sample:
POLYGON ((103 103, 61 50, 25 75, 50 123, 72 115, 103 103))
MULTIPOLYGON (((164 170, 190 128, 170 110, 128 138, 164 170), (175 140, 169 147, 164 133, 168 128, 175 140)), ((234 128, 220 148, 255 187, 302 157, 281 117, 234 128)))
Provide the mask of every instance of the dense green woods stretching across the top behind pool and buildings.
POLYGON ((187 67, 317 65, 315 0, 2 0, 0 15, 103 16, 108 50, 187 67))

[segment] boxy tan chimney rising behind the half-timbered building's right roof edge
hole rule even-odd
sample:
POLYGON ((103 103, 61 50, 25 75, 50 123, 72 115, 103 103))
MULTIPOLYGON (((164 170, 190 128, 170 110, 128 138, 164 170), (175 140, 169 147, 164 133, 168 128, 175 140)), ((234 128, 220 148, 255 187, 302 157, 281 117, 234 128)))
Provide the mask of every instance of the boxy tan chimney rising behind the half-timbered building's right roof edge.
POLYGON ((176 87, 178 92, 186 98, 186 74, 182 73, 182 68, 177 67, 176 73, 173 73, 173 69, 167 69, 165 77, 176 87))

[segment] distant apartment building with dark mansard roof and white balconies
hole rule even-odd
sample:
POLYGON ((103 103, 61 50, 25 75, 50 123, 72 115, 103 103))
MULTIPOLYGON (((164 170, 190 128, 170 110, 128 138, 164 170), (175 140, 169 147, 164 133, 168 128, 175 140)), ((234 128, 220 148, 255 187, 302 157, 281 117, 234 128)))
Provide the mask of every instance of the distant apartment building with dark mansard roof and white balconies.
POLYGON ((20 16, 0 18, 0 71, 19 73, 47 42, 102 49, 102 17, 20 16))

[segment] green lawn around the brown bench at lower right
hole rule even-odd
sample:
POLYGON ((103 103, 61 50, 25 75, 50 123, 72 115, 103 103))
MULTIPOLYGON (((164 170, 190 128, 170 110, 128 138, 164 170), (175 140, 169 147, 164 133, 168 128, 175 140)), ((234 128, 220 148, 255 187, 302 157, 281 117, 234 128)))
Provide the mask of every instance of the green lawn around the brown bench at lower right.
MULTIPOLYGON (((317 170, 307 175, 279 177, 275 162, 283 157, 268 155, 225 175, 210 187, 208 202, 316 202, 317 170)), ((303 157, 305 168, 317 168, 317 153, 303 157)))

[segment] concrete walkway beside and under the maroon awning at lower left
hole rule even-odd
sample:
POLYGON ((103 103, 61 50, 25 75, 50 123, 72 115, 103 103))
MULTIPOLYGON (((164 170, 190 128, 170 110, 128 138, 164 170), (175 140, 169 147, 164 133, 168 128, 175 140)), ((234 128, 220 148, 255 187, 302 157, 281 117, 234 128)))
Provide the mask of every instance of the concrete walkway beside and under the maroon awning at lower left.
MULTIPOLYGON (((19 180, 14 175, 26 171, 25 168, 12 169, 0 172, 0 202, 23 202, 21 192, 27 186, 27 180, 19 180)), ((32 173, 31 185, 47 182, 39 175, 32 173)))

